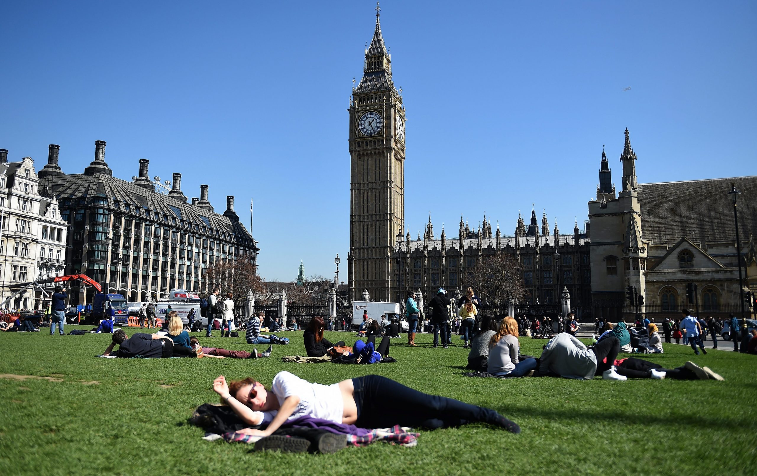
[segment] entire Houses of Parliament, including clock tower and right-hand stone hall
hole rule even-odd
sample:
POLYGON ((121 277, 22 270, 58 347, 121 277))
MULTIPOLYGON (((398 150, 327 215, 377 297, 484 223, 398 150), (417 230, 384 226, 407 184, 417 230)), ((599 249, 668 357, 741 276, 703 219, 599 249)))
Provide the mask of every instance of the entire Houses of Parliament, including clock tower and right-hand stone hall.
POLYGON ((597 198, 587 204, 583 229, 578 221, 569 233, 556 223, 550 229, 546 213, 539 223, 531 210, 528 225, 519 216, 508 235, 499 224, 493 232, 484 216, 475 229, 461 218, 457 236, 447 238, 444 229, 435 234, 429 217, 413 239, 404 222, 405 123, 377 11, 349 107, 352 300, 367 293, 370 300, 402 302, 409 289, 429 300, 440 287, 463 290, 477 261, 497 252, 516 258, 528 303, 555 303, 568 288, 573 310, 584 319, 633 316, 625 300, 629 286, 645 297, 640 312, 679 316, 689 305, 691 282, 704 313, 727 316, 740 309, 739 262, 743 290, 757 293, 757 176, 639 183, 626 129, 620 191, 603 151, 597 198), (738 207, 729 198, 732 188, 741 192, 738 207))

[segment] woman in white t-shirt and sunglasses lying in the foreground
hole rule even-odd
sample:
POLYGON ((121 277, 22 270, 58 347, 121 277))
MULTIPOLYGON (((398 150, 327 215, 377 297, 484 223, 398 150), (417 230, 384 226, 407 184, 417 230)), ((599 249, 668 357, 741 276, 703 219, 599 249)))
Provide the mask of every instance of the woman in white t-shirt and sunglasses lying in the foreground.
POLYGON ((447 397, 428 395, 381 375, 313 384, 290 372, 279 372, 270 388, 254 378, 226 383, 220 375, 213 391, 248 425, 240 433, 269 436, 291 418, 310 416, 360 428, 450 428, 484 422, 520 433, 520 427, 493 409, 447 397))

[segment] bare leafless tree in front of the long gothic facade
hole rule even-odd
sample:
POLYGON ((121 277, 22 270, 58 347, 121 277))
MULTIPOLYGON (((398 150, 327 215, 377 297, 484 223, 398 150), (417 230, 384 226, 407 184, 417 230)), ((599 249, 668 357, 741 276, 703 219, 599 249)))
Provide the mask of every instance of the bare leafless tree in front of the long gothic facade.
POLYGON ((526 292, 518 262, 507 253, 484 255, 478 260, 469 275, 476 291, 495 304, 522 299, 526 292))

